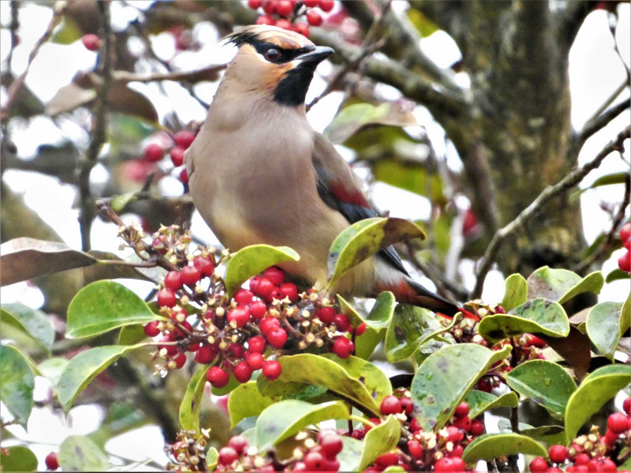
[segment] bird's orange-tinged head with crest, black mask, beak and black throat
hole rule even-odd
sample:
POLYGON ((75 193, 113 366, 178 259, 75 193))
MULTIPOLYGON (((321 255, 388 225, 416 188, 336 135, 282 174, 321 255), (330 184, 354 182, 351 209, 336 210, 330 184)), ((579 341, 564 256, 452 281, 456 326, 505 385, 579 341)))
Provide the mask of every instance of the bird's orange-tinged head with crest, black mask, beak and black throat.
POLYGON ((228 41, 239 47, 228 68, 230 78, 290 107, 304 104, 315 67, 333 54, 331 48, 276 26, 246 26, 228 41))

